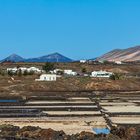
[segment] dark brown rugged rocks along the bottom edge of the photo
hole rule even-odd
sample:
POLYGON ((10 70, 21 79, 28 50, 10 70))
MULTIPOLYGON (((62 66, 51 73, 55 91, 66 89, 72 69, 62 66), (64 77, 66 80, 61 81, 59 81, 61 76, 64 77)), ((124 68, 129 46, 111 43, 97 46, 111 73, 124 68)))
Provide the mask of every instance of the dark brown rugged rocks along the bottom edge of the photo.
POLYGON ((91 132, 81 132, 74 135, 66 135, 63 131, 41 129, 39 127, 26 126, 19 128, 12 125, 0 126, 1 140, 139 140, 140 127, 112 128, 108 135, 95 135, 91 132))

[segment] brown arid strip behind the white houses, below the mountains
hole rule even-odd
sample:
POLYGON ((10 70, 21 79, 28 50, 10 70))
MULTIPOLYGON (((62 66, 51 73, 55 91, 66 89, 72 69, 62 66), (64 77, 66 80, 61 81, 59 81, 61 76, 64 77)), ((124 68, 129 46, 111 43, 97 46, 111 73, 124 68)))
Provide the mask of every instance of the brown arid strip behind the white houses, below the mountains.
MULTIPOLYGON (((45 63, 6 63, 0 64, 0 69, 13 68, 13 67, 38 67, 42 68, 45 63)), ((83 64, 78 62, 73 63, 53 63, 57 69, 72 69, 73 71, 82 72, 83 68, 86 68, 87 73, 91 73, 94 70, 107 70, 116 73, 140 73, 140 64, 83 64)))

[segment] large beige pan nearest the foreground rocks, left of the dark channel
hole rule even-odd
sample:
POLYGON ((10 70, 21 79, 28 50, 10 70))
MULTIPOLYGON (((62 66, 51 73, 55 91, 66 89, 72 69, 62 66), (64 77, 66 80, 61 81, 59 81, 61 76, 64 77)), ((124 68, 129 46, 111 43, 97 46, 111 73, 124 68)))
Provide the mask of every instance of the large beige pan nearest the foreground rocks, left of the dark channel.
POLYGON ((106 127, 102 117, 68 117, 68 118, 1 118, 0 124, 12 124, 16 126, 39 126, 44 129, 63 130, 66 134, 76 134, 81 131, 93 132, 92 128, 106 127), (63 120, 63 121, 62 121, 63 120), (90 122, 90 125, 87 123, 90 122))

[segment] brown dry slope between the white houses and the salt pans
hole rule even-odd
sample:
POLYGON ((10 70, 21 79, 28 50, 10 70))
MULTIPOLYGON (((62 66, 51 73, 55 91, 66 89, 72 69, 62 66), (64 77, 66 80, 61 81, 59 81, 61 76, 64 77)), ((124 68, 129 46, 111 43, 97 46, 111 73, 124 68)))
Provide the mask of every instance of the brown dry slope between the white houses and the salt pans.
POLYGON ((29 92, 47 91, 89 91, 89 90, 140 90, 140 78, 110 80, 90 77, 63 77, 56 82, 36 82, 37 75, 0 76, 0 93, 2 95, 29 95, 29 92))

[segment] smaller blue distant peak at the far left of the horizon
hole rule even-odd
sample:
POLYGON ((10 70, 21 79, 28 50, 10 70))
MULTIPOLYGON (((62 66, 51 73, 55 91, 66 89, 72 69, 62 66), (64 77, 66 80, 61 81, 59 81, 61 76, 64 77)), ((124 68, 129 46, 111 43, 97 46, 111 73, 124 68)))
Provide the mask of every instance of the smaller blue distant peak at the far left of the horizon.
POLYGON ((1 62, 6 62, 6 61, 11 61, 11 62, 22 62, 25 59, 22 58, 21 56, 17 55, 17 54, 12 54, 8 57, 6 57, 5 59, 1 60, 1 62))

